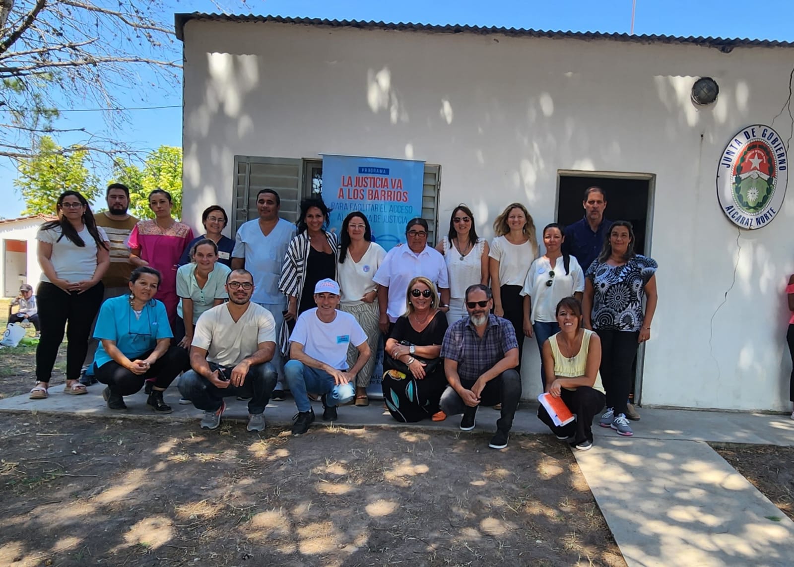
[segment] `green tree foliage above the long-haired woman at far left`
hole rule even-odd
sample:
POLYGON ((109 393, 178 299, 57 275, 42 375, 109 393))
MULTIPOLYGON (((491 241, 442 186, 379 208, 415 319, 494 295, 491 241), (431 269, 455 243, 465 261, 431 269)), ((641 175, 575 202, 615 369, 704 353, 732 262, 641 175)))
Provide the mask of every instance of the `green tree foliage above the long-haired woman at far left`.
POLYGON ((22 214, 55 214, 58 195, 64 191, 79 191, 93 202, 102 190, 99 179, 85 166, 87 152, 56 145, 49 136, 39 138, 37 156, 18 162, 18 176, 13 185, 25 199, 22 214))

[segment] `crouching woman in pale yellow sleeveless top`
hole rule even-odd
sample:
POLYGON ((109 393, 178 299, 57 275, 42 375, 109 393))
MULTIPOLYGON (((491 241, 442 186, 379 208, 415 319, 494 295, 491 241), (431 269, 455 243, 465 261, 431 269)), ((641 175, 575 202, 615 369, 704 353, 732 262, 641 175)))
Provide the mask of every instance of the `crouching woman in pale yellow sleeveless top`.
POLYGON ((543 343, 545 392, 561 398, 576 420, 556 426, 542 405, 538 418, 557 439, 572 438, 572 447, 586 451, 593 446, 593 418, 607 400, 599 374, 601 341, 592 330, 582 328, 582 306, 577 299, 561 299, 555 312, 560 332, 543 343))

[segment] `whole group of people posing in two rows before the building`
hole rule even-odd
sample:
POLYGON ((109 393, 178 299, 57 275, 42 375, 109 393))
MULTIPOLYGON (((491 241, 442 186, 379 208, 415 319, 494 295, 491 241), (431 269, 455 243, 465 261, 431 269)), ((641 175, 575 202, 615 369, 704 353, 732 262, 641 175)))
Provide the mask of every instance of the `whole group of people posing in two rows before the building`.
POLYGON ((234 240, 222 235, 221 206, 204 211, 206 233, 195 237, 172 218, 166 191, 152 191, 155 218, 142 221, 127 212, 125 186, 111 184, 106 199, 94 217, 83 195, 65 191, 57 220, 38 233, 33 399, 48 395, 66 328, 69 394, 98 380, 108 407, 124 409, 124 397, 145 388, 148 405, 169 412, 163 391, 182 374, 179 392, 205 412, 203 427, 217 427, 223 399, 237 395, 249 400, 249 430, 262 430, 264 407, 288 389, 293 433, 303 434, 314 421, 310 396, 326 420, 338 405, 368 405, 384 334, 384 403, 395 419, 462 414, 461 429, 472 430, 477 407, 498 407, 490 446, 500 449, 521 397, 524 338, 534 337, 544 391, 577 415, 553 427, 558 437, 588 448, 604 407, 599 425, 632 434, 627 402, 638 344, 650 337, 656 263, 634 253, 630 223, 603 218, 600 187, 586 191, 579 222, 545 226, 543 255, 521 203, 495 219, 490 245, 461 204, 435 247, 414 218, 407 243, 387 253, 359 211, 340 233, 329 230, 320 198, 304 199, 293 225, 279 218, 278 193, 264 189, 259 218, 234 240))

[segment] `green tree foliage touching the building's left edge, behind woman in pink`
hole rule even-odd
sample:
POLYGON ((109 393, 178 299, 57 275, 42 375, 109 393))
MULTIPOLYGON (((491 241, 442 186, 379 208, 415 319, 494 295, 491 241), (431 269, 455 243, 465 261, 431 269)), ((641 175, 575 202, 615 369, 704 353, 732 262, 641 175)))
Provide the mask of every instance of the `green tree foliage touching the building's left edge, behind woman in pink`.
POLYGON ((129 213, 137 218, 154 218, 148 206, 148 194, 164 189, 171 194, 171 214, 182 218, 182 148, 161 145, 150 153, 143 168, 124 160, 114 161, 113 179, 129 187, 129 213))

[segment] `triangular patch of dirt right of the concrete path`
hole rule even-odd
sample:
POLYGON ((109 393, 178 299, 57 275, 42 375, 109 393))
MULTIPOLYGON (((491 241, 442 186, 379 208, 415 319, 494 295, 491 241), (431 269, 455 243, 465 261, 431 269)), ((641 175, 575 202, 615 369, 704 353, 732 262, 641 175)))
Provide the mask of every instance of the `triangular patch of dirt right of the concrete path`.
POLYGON ((794 447, 723 443, 711 447, 794 520, 794 447))

